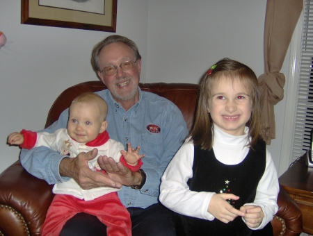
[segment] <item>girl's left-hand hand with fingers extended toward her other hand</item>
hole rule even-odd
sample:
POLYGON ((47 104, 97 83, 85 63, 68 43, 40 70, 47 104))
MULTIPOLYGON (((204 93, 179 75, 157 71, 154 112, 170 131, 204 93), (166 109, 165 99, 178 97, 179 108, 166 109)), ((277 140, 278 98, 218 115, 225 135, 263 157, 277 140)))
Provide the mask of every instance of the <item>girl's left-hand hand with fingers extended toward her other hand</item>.
POLYGON ((230 203, 227 203, 227 199, 238 200, 239 196, 234 194, 214 194, 207 208, 210 214, 226 224, 238 216, 245 216, 244 212, 233 208, 230 203))

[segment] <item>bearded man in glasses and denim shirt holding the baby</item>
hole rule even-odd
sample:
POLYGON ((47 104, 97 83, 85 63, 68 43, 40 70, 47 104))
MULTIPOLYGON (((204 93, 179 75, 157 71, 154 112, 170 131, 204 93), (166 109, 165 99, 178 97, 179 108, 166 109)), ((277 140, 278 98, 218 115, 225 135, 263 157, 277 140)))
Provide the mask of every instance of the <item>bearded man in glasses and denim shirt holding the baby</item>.
MULTIPOLYGON (((49 184, 74 178, 83 189, 122 187, 118 196, 131 215, 133 235, 175 235, 172 212, 159 203, 158 196, 163 171, 188 134, 184 117, 167 99, 138 87, 141 55, 127 37, 106 37, 93 49, 91 62, 108 88, 97 92, 109 106, 108 132, 125 148, 128 142, 141 146, 145 153, 142 169, 131 172, 112 158, 101 156, 98 163, 107 174, 94 172, 87 162, 95 157, 96 149, 68 158, 45 147, 23 149, 22 165, 49 184)), ((65 110, 45 131, 65 128, 67 118, 65 110)), ((61 235, 106 235, 106 226, 97 217, 80 213, 67 221, 61 235)))

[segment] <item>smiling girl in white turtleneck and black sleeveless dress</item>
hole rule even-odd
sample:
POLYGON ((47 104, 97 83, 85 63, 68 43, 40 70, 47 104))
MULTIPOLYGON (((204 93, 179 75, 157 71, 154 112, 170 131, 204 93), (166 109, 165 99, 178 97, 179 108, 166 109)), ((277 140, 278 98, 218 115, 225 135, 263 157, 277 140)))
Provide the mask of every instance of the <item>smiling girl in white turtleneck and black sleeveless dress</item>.
POLYGON ((279 185, 259 137, 255 73, 225 58, 199 92, 193 129, 161 178, 177 235, 273 235, 279 185))

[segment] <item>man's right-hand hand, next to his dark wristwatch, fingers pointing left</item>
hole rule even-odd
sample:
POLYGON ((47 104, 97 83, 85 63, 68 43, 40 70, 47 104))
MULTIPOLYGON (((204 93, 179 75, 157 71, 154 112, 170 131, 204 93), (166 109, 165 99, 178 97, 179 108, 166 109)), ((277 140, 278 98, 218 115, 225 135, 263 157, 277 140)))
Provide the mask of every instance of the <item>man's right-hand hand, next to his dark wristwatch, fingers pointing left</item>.
POLYGON ((125 186, 140 185, 141 174, 138 172, 131 172, 121 162, 116 163, 113 158, 108 158, 106 155, 100 155, 98 164, 101 169, 104 169, 111 180, 116 181, 125 186))

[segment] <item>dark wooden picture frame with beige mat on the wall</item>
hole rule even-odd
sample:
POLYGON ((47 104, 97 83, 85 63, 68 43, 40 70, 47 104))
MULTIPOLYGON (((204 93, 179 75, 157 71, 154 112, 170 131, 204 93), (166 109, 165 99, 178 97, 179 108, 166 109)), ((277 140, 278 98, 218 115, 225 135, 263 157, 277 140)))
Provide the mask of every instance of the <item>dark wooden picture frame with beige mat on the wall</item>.
POLYGON ((118 0, 105 0, 104 8, 104 14, 98 14, 40 6, 38 0, 22 0, 21 23, 115 33, 118 0))

